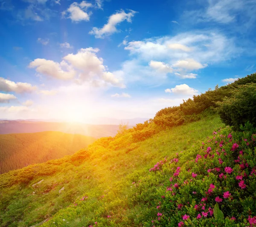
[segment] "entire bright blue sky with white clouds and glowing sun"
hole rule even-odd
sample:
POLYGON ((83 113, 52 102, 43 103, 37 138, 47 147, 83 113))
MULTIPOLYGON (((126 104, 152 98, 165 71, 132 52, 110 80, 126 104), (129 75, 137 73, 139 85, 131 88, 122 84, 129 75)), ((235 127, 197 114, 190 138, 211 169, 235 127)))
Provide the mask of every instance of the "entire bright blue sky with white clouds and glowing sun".
POLYGON ((256 0, 0 0, 0 118, 153 118, 256 71, 256 0))

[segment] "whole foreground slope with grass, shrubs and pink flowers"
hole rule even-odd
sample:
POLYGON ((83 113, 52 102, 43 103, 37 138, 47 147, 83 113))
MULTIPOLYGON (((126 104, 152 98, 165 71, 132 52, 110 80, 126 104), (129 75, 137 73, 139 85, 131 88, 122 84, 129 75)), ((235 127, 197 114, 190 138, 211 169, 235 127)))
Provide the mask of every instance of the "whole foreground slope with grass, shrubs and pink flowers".
POLYGON ((0 226, 254 227, 255 91, 253 74, 0 175, 0 226))

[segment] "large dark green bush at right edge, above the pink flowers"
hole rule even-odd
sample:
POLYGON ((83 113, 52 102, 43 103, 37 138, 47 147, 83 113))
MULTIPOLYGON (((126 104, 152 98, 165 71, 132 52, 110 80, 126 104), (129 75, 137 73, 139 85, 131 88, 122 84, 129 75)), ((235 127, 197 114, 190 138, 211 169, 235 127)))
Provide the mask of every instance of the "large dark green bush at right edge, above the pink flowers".
POLYGON ((241 85, 232 93, 231 98, 217 103, 221 120, 236 130, 246 122, 256 127, 256 83, 241 85))

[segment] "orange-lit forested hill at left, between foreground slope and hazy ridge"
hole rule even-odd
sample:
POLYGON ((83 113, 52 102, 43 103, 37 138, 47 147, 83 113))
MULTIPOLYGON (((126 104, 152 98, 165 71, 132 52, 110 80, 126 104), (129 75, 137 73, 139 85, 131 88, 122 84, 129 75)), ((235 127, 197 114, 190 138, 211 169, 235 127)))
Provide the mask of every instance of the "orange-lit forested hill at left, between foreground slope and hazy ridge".
POLYGON ((0 135, 0 174, 72 155, 81 148, 87 148, 95 140, 63 132, 0 135))

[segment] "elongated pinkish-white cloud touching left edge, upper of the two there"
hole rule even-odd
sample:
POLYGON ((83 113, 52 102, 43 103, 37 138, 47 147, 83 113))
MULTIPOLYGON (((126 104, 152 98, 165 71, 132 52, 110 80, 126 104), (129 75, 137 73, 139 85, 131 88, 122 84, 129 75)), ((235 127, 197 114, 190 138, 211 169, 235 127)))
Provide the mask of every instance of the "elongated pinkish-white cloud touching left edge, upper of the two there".
POLYGON ((30 83, 15 83, 11 80, 4 79, 0 77, 0 91, 3 92, 16 92, 16 93, 25 93, 32 92, 37 89, 36 86, 32 86, 30 83))

